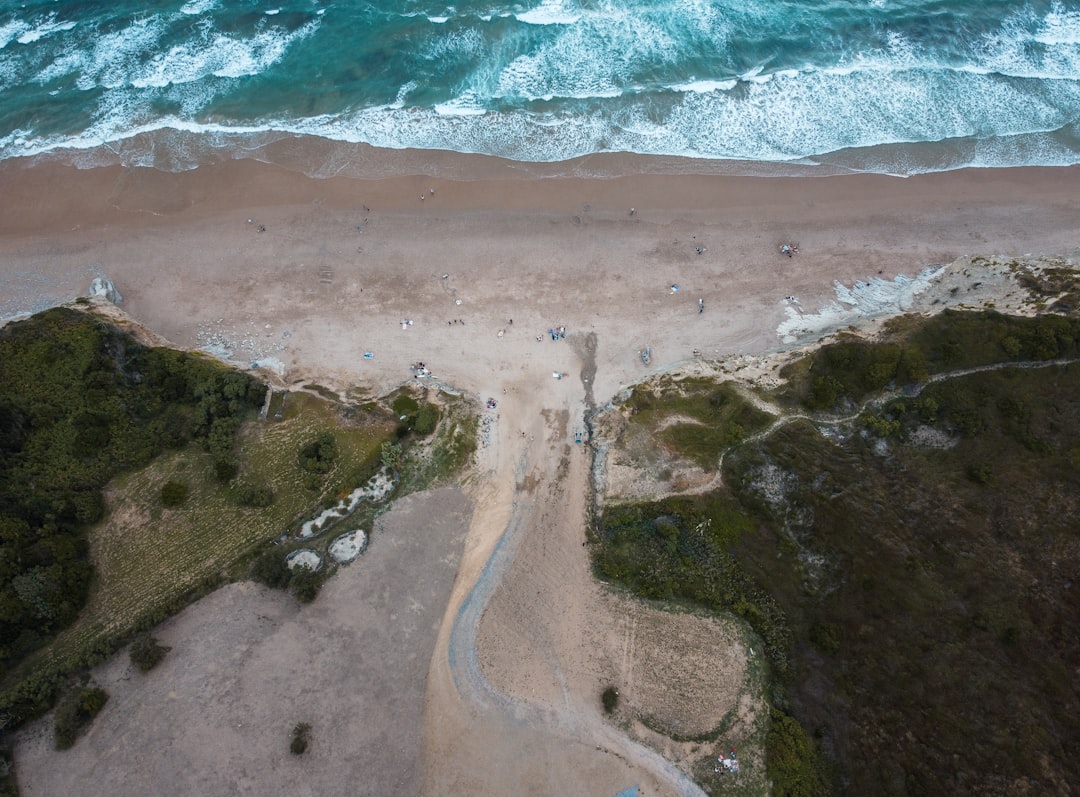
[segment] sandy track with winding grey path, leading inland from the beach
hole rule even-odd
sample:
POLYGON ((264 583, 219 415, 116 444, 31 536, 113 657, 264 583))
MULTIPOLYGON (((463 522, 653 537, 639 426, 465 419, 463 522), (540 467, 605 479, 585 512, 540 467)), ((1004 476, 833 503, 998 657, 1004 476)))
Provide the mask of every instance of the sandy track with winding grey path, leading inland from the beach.
POLYGON ((582 546, 591 462, 571 429, 584 422, 595 337, 576 348, 581 392, 515 401, 485 449, 470 539, 497 541, 467 555, 436 645, 424 794, 505 794, 510 784, 530 794, 702 794, 602 715, 596 647, 583 637, 609 610, 582 546))

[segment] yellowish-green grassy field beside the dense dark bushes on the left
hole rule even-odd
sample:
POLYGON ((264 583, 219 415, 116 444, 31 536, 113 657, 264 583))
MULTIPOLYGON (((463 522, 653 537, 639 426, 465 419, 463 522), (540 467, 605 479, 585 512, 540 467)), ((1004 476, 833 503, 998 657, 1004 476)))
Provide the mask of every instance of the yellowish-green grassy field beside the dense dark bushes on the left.
MULTIPOLYGON (((130 634, 168 613, 185 596, 218 583, 260 544, 289 531, 314 506, 355 486, 354 473, 377 456, 392 423, 378 416, 342 418, 312 395, 289 395, 284 420, 252 422, 241 432, 238 481, 270 485, 266 508, 239 505, 234 488, 216 482, 210 455, 198 447, 165 455, 117 478, 107 489, 106 518, 90 532, 96 579, 79 620, 60 634, 46 661, 60 662, 104 637, 130 634), (303 487, 297 451, 332 430, 339 456, 320 491, 303 487), (190 495, 163 509, 161 486, 186 483, 190 495)), ((234 573, 237 575, 237 573, 234 573)))

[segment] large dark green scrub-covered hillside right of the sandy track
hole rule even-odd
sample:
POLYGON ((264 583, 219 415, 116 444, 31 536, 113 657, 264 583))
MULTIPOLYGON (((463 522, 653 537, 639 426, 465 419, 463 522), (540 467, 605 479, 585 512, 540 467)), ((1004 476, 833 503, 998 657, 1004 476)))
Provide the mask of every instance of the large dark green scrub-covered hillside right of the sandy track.
MULTIPOLYGON (((716 496, 605 511, 604 578, 732 611, 765 641, 777 794, 1080 779, 1080 602, 1064 577, 1080 568, 1080 365, 1049 362, 1077 356, 1075 323, 945 313, 882 345, 843 340, 789 367, 788 400, 851 411, 919 363, 943 378, 735 446, 716 496)), ((667 410, 648 411, 659 425, 667 410)))

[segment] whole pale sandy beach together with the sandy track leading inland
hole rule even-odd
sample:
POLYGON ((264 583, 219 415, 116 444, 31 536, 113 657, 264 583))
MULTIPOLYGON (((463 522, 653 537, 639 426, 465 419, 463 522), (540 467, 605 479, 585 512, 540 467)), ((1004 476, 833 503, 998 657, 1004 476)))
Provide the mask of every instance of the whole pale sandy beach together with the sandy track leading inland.
POLYGON ((105 275, 136 321, 284 382, 380 394, 422 361, 496 398, 428 674, 421 791, 692 794, 599 707, 633 662, 612 631, 627 605, 593 582, 581 545, 588 461, 572 435, 585 409, 694 350, 779 348, 785 297, 812 312, 834 281, 1074 255, 1080 170, 789 178, 658 174, 626 156, 550 173, 388 158, 396 176, 369 179, 254 161, 183 174, 0 164, 0 316, 105 275), (566 176, 599 171, 624 176, 566 176), (781 255, 784 242, 799 253, 781 255))

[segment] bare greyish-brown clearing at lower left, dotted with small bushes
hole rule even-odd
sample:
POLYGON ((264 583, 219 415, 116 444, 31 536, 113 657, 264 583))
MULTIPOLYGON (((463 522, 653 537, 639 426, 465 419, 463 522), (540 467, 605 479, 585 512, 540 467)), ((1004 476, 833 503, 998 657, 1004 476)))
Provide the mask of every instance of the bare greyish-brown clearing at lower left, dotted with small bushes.
POLYGON ((424 681, 471 512, 453 488, 399 501, 309 606, 248 582, 190 606, 156 630, 173 647, 158 668, 119 656, 94 671, 110 700, 72 749, 52 749, 51 717, 21 735, 21 794, 417 794, 424 681), (302 757, 288 752, 299 721, 302 757))

